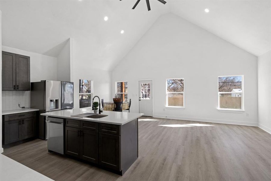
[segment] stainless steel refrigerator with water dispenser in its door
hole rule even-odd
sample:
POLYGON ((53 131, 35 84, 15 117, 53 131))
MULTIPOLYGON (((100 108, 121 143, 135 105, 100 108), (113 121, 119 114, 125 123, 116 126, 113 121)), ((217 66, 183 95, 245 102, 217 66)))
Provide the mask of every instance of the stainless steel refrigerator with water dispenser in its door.
POLYGON ((73 82, 31 82, 30 107, 39 109, 38 135, 47 139, 46 117, 41 113, 73 108, 73 82))

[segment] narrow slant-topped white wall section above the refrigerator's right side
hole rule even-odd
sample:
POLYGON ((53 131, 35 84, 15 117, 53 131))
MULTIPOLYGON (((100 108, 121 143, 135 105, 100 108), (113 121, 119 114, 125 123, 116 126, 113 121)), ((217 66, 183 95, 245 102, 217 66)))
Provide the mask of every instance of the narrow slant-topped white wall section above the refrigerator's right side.
POLYGON ((57 57, 57 80, 70 82, 70 39, 57 57))

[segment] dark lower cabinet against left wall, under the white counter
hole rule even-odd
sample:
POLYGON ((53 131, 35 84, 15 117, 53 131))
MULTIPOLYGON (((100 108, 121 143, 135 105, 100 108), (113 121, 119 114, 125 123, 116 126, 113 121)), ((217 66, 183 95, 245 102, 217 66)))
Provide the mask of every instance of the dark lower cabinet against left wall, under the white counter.
POLYGON ((36 138, 37 112, 3 115, 3 147, 7 148, 36 138))

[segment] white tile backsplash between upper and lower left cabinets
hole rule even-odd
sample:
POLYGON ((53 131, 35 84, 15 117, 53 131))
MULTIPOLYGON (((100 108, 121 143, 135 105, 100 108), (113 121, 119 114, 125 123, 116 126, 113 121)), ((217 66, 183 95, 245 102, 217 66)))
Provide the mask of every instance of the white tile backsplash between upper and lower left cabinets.
POLYGON ((2 91, 2 111, 30 106, 30 91, 2 91))

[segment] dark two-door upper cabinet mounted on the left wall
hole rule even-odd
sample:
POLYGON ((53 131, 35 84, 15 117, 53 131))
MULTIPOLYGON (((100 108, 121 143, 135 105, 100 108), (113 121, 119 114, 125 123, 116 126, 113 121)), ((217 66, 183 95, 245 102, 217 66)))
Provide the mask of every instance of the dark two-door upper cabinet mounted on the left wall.
POLYGON ((30 57, 2 51, 2 90, 30 90, 30 57))

